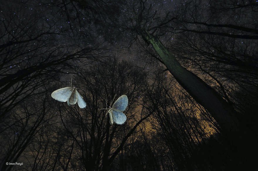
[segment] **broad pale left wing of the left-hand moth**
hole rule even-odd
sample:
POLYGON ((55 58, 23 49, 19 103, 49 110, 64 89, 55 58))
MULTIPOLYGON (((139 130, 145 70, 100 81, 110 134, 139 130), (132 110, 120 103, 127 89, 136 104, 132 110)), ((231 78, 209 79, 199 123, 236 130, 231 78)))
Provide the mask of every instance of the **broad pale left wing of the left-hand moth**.
POLYGON ((66 102, 72 94, 71 87, 60 88, 55 90, 51 97, 60 102, 66 102))

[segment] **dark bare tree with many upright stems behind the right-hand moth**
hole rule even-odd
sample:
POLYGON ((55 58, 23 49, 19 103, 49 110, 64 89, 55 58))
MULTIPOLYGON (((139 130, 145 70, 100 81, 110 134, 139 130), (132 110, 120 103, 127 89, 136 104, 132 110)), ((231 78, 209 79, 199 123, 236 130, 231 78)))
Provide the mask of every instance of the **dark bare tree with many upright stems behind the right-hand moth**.
POLYGON ((143 112, 139 118, 139 114, 133 112, 139 103, 139 96, 144 93, 144 75, 132 64, 117 60, 99 61, 79 69, 79 73, 80 70, 86 70, 88 74, 79 74, 74 78, 74 85, 83 90, 84 93, 79 92, 85 97, 86 109, 78 110, 77 106, 71 108, 66 104, 64 108, 56 109, 66 132, 64 136, 72 140, 68 141, 70 148, 61 151, 60 165, 65 166, 64 162, 69 161, 67 167, 74 170, 111 170, 128 138, 151 114, 143 112), (107 110, 101 109, 109 107, 107 105, 111 105, 112 99, 116 97, 116 100, 122 94, 126 94, 129 101, 125 111, 126 124, 111 126, 107 110))

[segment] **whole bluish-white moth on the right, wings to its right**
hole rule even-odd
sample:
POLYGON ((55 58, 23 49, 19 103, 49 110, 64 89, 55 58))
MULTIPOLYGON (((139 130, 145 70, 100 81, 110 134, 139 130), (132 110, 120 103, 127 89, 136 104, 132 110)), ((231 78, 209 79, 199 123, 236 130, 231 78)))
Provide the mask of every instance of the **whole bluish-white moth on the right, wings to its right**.
POLYGON ((121 95, 113 104, 111 108, 109 108, 108 113, 110 117, 110 122, 113 125, 115 122, 118 125, 122 125, 126 121, 126 116, 123 113, 125 108, 128 105, 128 98, 126 95, 121 95))

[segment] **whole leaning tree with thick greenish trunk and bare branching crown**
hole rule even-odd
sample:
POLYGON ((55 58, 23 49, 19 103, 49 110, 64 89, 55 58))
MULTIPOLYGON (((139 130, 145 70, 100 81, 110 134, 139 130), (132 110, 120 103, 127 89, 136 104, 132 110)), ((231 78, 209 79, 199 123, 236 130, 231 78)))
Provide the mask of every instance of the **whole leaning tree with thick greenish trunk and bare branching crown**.
POLYGON ((178 16, 173 11, 162 7, 161 4, 161 1, 153 4, 150 1, 125 2, 120 8, 123 13, 118 16, 120 25, 111 22, 114 30, 121 36, 123 35, 123 38, 128 38, 130 44, 139 40, 140 37, 151 44, 159 55, 159 60, 165 64, 180 85, 211 113, 225 134, 231 134, 232 131, 237 134, 240 127, 232 105, 205 81, 184 68, 162 43, 162 38, 167 33, 173 32, 171 24, 178 16))

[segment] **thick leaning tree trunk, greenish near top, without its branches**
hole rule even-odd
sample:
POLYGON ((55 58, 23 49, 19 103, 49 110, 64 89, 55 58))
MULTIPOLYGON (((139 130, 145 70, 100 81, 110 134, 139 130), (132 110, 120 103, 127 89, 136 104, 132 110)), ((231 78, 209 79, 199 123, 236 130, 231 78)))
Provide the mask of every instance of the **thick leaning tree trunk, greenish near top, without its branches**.
POLYGON ((212 117, 220 125, 222 132, 227 135, 233 132, 237 133, 239 123, 234 116, 236 114, 234 108, 201 78, 181 66, 159 39, 150 35, 147 30, 140 31, 140 35, 153 46, 178 83, 196 102, 211 113, 212 117))

